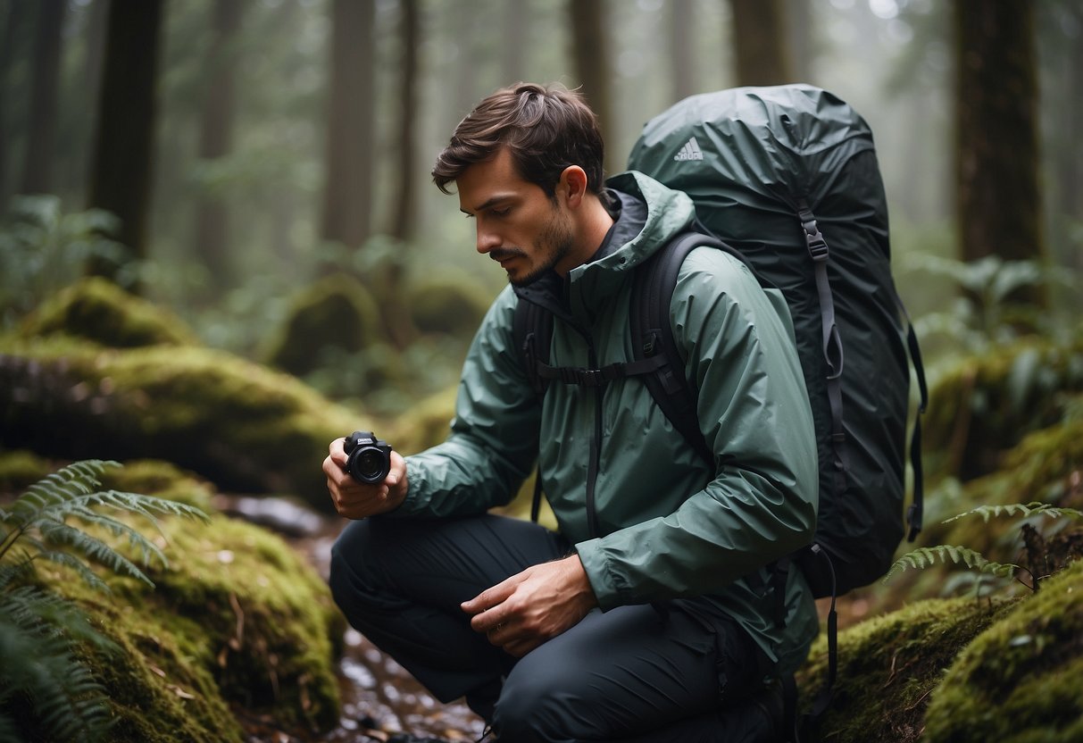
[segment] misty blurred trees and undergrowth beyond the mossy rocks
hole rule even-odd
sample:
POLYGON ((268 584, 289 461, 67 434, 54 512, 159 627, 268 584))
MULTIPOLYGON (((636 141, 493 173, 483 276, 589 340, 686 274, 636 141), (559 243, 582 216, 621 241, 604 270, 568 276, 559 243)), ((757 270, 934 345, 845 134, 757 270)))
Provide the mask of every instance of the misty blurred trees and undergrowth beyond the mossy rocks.
POLYGON ((457 340, 433 341, 409 298, 505 281, 428 174, 480 97, 580 88, 613 173, 688 94, 805 81, 873 128, 897 282, 935 366, 961 327, 990 329, 961 283, 988 304, 1003 274, 941 259, 1030 261, 1014 296, 1079 309, 1064 279, 1083 263, 1081 29, 1073 0, 3 0, 0 318, 89 272, 265 360, 299 291, 352 274, 387 344, 293 370, 394 410, 454 381, 475 321, 445 316, 457 340), (397 390, 357 373, 409 349, 397 390))

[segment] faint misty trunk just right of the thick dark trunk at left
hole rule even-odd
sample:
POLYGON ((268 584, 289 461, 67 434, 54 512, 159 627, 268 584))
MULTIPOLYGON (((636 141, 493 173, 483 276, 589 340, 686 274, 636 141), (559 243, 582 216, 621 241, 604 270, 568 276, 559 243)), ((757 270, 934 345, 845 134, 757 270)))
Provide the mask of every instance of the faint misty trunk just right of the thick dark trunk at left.
MULTIPOLYGON (((216 0, 213 37, 207 54, 207 76, 199 121, 199 158, 213 161, 233 149, 235 118, 233 47, 240 28, 244 3, 240 0, 216 0)), ((196 212, 195 252, 210 275, 211 288, 229 285, 232 275, 229 245, 229 211, 221 194, 203 194, 196 212)))

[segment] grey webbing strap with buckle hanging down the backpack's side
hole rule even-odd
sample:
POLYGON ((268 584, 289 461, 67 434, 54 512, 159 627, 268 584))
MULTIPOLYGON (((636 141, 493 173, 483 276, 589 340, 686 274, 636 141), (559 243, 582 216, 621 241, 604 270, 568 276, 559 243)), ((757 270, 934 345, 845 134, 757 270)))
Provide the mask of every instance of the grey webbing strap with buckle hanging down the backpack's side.
POLYGON ((820 327, 823 361, 827 365, 827 403, 831 406, 831 447, 834 455, 835 492, 843 493, 846 488, 846 432, 843 429, 843 339, 838 335, 835 323, 835 301, 831 294, 831 282, 827 278, 827 259, 830 250, 827 242, 817 226, 815 217, 804 198, 797 199, 797 217, 805 230, 805 240, 808 244, 809 257, 812 259, 812 271, 815 278, 817 295, 820 298, 820 327))

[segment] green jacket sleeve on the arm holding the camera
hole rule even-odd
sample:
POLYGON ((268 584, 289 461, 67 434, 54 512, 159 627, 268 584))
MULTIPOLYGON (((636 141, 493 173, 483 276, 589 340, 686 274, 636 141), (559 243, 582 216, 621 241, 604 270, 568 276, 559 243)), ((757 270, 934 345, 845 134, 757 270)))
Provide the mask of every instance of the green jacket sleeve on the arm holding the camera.
POLYGON ((537 457, 539 404, 513 350, 516 297, 505 289, 462 366, 452 431, 406 457, 409 491, 394 516, 480 513, 518 493, 537 457))

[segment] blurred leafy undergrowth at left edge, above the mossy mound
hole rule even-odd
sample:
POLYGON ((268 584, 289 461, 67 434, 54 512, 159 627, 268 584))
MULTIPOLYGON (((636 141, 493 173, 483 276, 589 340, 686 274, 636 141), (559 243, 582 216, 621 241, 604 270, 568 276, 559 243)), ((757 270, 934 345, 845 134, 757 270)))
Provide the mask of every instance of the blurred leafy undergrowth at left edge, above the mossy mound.
POLYGON ((113 239, 117 227, 117 218, 100 209, 65 214, 57 196, 12 198, 0 223, 0 327, 79 277, 91 258, 130 265, 119 281, 133 284, 138 266, 113 239))

